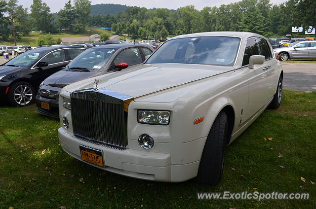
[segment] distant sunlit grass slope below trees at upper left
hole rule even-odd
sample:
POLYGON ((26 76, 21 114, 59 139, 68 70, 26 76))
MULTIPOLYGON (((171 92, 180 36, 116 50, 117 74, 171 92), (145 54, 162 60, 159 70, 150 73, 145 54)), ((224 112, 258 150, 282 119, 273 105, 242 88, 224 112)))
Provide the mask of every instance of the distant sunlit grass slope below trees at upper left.
MULTIPOLYGON (((103 29, 89 29, 89 35, 92 34, 99 34, 102 35, 103 33, 107 33, 109 36, 112 34, 108 31, 105 31, 103 29)), ((22 36, 20 40, 16 40, 16 45, 30 45, 30 46, 37 46, 36 40, 42 35, 42 33, 30 33, 29 35, 22 36)), ((88 36, 88 34, 71 34, 71 33, 58 33, 58 34, 52 34, 53 38, 56 40, 57 38, 62 37, 84 37, 88 36)), ((13 46, 13 39, 10 38, 8 41, 0 41, 0 45, 7 45, 7 46, 13 46)))

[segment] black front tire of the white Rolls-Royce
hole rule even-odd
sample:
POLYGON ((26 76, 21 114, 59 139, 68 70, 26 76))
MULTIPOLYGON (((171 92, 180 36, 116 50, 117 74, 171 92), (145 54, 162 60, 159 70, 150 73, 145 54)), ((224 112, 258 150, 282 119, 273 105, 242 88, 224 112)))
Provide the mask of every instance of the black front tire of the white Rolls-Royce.
POLYGON ((197 173, 198 183, 217 185, 222 178, 227 124, 227 115, 221 111, 217 115, 204 145, 197 173))

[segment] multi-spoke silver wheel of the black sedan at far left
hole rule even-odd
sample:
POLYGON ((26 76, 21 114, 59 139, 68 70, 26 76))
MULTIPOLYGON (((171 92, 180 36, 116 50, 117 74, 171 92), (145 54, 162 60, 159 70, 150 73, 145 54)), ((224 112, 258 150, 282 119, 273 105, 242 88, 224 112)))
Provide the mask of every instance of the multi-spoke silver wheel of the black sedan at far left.
POLYGON ((34 101, 34 88, 27 82, 17 82, 9 88, 8 99, 12 106, 26 106, 34 101))

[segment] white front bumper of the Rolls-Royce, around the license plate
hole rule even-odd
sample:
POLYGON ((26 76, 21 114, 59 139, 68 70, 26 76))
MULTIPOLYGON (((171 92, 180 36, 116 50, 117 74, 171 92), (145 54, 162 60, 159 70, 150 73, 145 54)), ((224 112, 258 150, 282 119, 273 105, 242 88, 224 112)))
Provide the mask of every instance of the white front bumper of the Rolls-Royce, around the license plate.
MULTIPOLYGON (((72 134, 64 128, 58 129, 58 137, 62 148, 69 155, 80 161, 82 160, 79 145, 102 150, 104 165, 102 168, 85 161, 82 162, 108 172, 139 179, 165 182, 181 182, 197 176, 199 160, 185 164, 172 164, 171 154, 134 149, 118 150, 103 145, 92 144, 88 141, 73 137, 72 134)), ((192 143, 200 143, 201 140, 205 142, 206 139, 197 139, 195 140, 196 142, 192 143)), ((129 140, 129 142, 130 141, 135 140, 129 140)), ((170 146, 168 143, 161 144, 164 144, 166 147, 170 146)), ((178 143, 175 152, 183 152, 184 155, 188 155, 188 145, 190 146, 190 144, 178 143)))

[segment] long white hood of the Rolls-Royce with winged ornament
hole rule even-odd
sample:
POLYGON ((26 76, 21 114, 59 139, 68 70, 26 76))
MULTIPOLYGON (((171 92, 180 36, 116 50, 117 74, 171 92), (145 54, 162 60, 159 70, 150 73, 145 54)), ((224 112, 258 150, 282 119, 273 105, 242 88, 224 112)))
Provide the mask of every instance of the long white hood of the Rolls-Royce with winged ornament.
MULTIPOLYGON (((145 64, 96 78, 99 79, 99 89, 105 88, 136 98, 230 70, 234 68, 196 64, 145 64)), ((93 81, 96 78, 74 83, 65 90, 73 92, 95 88, 93 81)))

